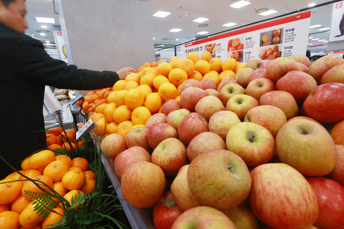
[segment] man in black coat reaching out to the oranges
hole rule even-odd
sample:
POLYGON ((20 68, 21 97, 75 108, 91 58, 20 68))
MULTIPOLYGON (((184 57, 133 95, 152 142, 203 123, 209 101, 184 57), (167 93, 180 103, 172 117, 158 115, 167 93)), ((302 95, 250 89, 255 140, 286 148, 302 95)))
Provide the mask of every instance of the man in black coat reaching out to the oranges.
MULTIPOLYGON (((24 35, 24 0, 0 0, 0 154, 20 169, 20 161, 46 145, 45 85, 75 90, 112 87, 132 68, 89 71, 50 57, 43 44, 24 35)), ((0 179, 13 171, 0 160, 0 179)))

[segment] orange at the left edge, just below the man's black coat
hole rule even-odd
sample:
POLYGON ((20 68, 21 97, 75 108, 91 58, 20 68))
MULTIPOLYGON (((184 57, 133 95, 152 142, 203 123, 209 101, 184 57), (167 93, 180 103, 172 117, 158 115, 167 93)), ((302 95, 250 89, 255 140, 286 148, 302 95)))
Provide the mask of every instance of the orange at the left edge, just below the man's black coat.
POLYGON ((23 184, 14 178, 5 178, 0 180, 0 204, 8 204, 20 195, 22 191, 23 184), (13 181, 13 182, 8 182, 13 181), (8 182, 8 183, 3 183, 8 182), (3 183, 3 184, 2 184, 3 183))

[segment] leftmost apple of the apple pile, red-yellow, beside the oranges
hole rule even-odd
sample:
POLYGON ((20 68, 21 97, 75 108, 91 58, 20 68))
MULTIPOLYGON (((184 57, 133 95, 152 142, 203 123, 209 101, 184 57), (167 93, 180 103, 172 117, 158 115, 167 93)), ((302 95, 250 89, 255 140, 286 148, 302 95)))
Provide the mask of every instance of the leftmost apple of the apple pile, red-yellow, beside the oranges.
POLYGON ((103 139, 100 149, 105 155, 115 160, 116 156, 128 149, 128 147, 125 137, 118 133, 113 133, 103 139))

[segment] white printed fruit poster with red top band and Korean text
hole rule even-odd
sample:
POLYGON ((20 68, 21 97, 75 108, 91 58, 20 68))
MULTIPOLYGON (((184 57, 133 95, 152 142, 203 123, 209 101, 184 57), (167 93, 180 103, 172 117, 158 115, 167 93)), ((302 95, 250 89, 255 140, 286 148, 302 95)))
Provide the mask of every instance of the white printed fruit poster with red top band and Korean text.
POLYGON ((222 61, 234 58, 247 63, 253 59, 273 60, 282 56, 306 55, 311 11, 210 37, 181 47, 181 56, 200 56, 209 51, 222 61))

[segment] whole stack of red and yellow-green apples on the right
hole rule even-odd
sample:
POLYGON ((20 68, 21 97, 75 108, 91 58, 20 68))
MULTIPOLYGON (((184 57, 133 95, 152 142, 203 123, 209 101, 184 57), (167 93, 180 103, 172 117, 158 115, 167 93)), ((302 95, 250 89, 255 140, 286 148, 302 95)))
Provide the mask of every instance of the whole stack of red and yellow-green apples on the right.
POLYGON ((344 59, 252 60, 213 83, 104 138, 124 198, 156 229, 343 229, 344 59))

